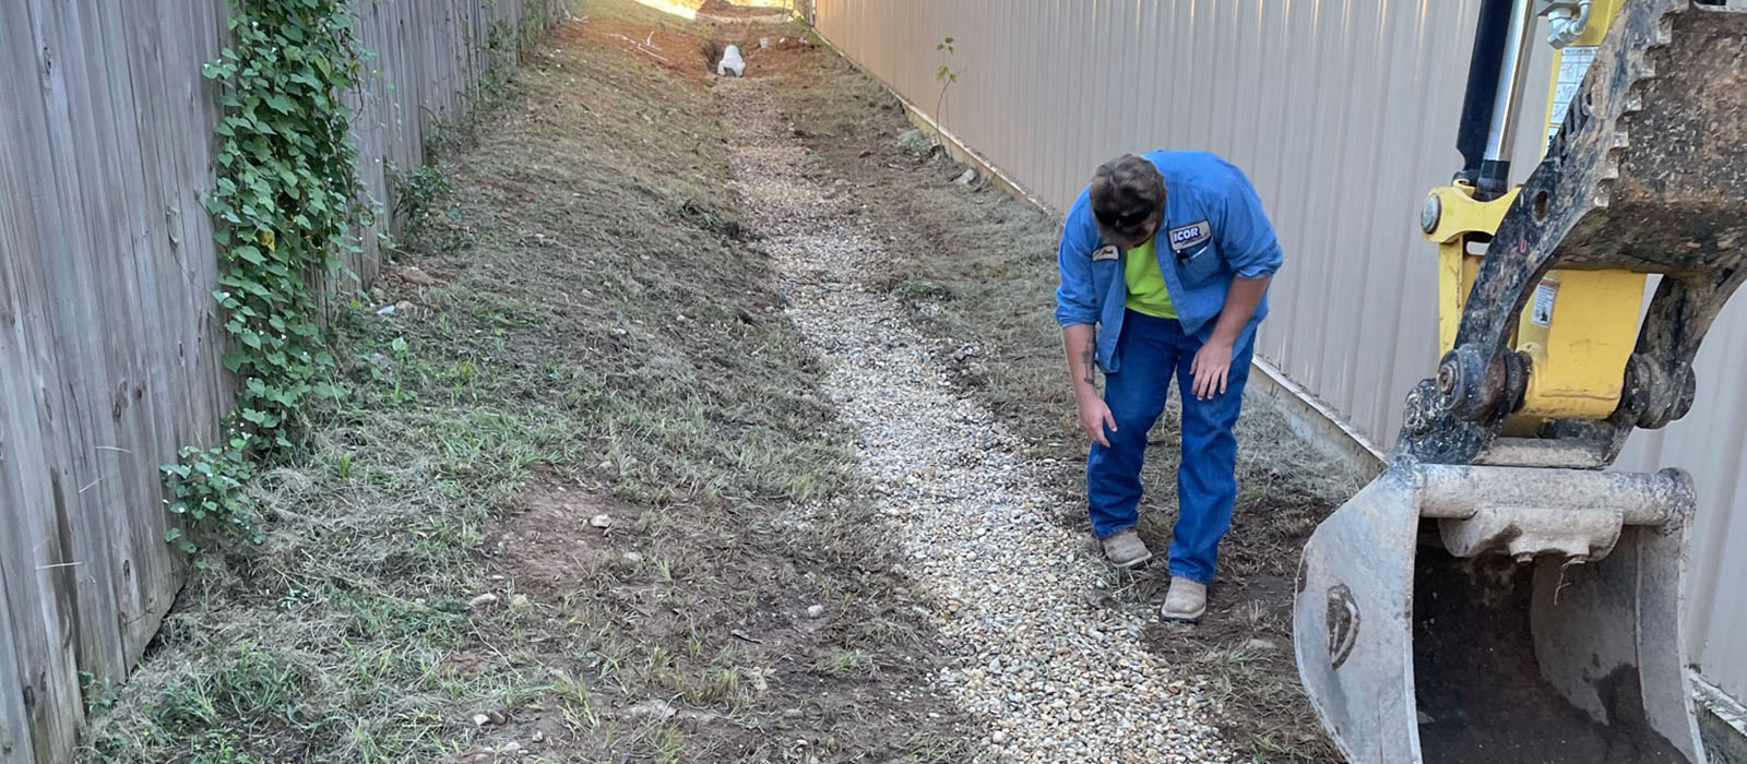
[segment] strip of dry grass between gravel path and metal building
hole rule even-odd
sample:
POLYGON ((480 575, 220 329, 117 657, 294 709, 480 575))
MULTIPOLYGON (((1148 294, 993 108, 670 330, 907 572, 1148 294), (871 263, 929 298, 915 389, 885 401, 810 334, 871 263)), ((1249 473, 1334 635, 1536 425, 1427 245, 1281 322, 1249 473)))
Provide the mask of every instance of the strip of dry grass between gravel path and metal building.
MULTIPOLYGON (((1057 220, 978 183, 917 136, 898 103, 830 54, 816 84, 786 110, 823 169, 853 178, 894 253, 887 284, 914 319, 961 347, 959 382, 1022 434, 1060 490, 1060 522, 1085 529, 1085 445, 1074 422, 1053 309, 1057 220)), ((1087 167, 1090 173, 1090 167, 1087 167)), ((1176 518, 1176 405, 1153 433, 1141 532, 1164 548, 1176 518)), ((1150 645, 1214 679, 1226 736, 1268 762, 1333 762, 1298 687, 1291 658, 1291 576, 1315 523, 1359 485, 1357 476, 1296 438, 1279 412, 1251 396, 1239 424, 1239 485, 1223 546, 1216 611, 1197 628, 1157 626, 1150 645)), ((1155 565, 1118 583, 1125 604, 1162 602, 1169 572, 1155 565)))

